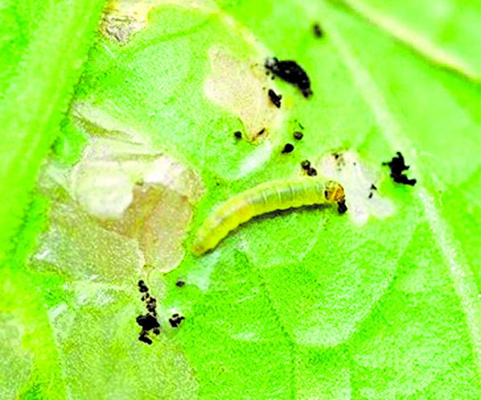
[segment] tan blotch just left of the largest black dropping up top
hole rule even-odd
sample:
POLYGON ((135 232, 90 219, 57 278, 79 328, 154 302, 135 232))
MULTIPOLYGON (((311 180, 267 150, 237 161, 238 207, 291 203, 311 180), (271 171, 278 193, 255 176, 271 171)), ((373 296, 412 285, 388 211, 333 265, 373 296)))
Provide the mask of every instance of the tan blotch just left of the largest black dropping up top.
POLYGON ((267 90, 273 84, 262 62, 239 60, 216 47, 208 56, 211 72, 204 82, 205 95, 241 119, 248 141, 262 141, 280 124, 283 114, 269 100, 267 90))

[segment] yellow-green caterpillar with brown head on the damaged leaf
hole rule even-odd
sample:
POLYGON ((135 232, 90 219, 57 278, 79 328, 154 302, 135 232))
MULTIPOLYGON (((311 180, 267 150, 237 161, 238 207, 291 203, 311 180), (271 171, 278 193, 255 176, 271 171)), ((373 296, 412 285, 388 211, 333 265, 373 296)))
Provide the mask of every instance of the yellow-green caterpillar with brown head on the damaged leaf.
POLYGON ((344 188, 319 177, 261 183, 218 206, 198 230, 192 252, 200 255, 213 249, 231 230, 257 215, 325 202, 337 203, 339 213, 344 213, 344 188))

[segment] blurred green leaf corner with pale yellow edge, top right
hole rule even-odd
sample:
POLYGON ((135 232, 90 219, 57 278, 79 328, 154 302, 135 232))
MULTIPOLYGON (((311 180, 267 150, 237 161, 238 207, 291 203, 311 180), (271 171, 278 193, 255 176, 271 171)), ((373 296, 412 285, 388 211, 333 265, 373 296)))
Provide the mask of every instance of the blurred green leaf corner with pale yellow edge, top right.
POLYGON ((433 62, 480 81, 481 61, 473 46, 481 38, 478 1, 342 2, 433 62))

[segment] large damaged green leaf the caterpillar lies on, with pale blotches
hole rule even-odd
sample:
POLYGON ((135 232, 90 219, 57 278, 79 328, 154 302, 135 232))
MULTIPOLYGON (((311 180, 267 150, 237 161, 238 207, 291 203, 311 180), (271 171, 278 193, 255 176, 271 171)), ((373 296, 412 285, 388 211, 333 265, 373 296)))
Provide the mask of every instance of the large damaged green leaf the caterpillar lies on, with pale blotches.
POLYGON ((111 6, 6 269, 6 396, 478 398, 478 84, 330 1, 111 6), (265 75, 274 56, 312 97, 265 75), (416 185, 382 166, 397 151, 416 185), (191 254, 216 204, 306 159, 345 215, 261 216, 191 254))

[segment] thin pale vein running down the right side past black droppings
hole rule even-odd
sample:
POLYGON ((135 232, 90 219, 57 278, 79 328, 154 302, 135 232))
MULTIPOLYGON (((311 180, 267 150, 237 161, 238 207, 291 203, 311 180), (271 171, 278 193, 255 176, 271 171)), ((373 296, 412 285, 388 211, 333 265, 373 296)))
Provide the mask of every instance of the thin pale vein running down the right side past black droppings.
MULTIPOLYGON (((329 14, 327 7, 323 7, 323 9, 325 14, 329 14)), ((376 86, 369 72, 362 67, 361 60, 355 57, 348 42, 343 39, 342 33, 339 32, 336 24, 331 21, 332 18, 325 18, 323 24, 325 24, 328 29, 330 37, 335 43, 346 67, 350 71, 362 98, 372 109, 375 120, 382 128, 381 130, 387 142, 393 149, 393 152, 405 149, 405 153, 409 154, 409 159, 412 160, 412 164, 417 165, 417 171, 425 171, 425 169, 422 168, 422 163, 417 157, 413 144, 403 134, 396 118, 389 110, 381 91, 376 86)), ((422 184, 422 179, 420 180, 422 184)), ((433 196, 421 185, 416 186, 413 193, 424 210, 429 227, 436 238, 436 242, 449 268, 449 275, 453 282, 456 295, 459 298, 463 312, 466 315, 466 322, 473 345, 475 363, 478 371, 481 372, 481 332, 479 327, 481 310, 479 301, 477 300, 476 285, 472 279, 468 263, 466 262, 462 251, 459 250, 460 246, 453 238, 450 229, 448 229, 448 225, 441 217, 433 196)))

